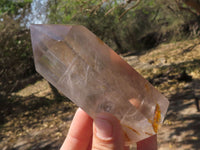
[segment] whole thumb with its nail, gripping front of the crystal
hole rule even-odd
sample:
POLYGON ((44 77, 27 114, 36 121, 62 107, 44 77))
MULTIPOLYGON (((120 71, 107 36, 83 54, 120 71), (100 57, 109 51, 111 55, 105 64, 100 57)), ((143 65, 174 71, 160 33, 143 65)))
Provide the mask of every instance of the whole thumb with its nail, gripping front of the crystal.
POLYGON ((111 114, 99 114, 94 119, 92 150, 124 150, 121 125, 111 114))

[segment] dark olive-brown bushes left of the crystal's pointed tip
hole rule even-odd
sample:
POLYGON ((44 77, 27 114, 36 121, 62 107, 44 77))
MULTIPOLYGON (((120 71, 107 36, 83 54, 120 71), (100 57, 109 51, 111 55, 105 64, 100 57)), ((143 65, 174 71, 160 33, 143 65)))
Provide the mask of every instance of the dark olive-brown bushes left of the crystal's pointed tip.
POLYGON ((0 90, 6 92, 8 85, 34 71, 29 30, 21 26, 30 2, 0 2, 0 90))

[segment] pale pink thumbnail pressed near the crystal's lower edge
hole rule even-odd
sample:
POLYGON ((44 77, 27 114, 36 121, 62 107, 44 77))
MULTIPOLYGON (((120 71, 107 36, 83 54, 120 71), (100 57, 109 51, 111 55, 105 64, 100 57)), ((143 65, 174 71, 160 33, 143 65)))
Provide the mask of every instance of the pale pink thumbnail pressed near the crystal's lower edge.
POLYGON ((96 135, 98 138, 102 140, 110 140, 112 139, 113 129, 112 124, 104 119, 97 117, 94 119, 96 135))

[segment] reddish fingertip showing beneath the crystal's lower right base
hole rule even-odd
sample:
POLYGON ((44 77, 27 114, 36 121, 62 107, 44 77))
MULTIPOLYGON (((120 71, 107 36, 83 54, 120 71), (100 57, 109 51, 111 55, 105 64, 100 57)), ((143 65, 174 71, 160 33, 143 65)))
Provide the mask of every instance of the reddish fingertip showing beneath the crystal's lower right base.
POLYGON ((157 135, 153 135, 138 142, 137 150, 157 150, 157 135))

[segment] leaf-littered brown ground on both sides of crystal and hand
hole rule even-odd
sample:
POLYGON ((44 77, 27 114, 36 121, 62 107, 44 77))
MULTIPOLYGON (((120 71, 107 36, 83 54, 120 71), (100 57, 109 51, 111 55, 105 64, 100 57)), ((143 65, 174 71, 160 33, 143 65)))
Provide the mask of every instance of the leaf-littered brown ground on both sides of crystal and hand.
MULTIPOLYGON (((200 40, 162 44, 138 56, 122 56, 170 101, 158 133, 159 150, 200 149, 200 113, 194 86, 200 80, 200 40)), ((59 149, 76 106, 55 100, 44 79, 12 92, 0 106, 0 149, 59 149)))

